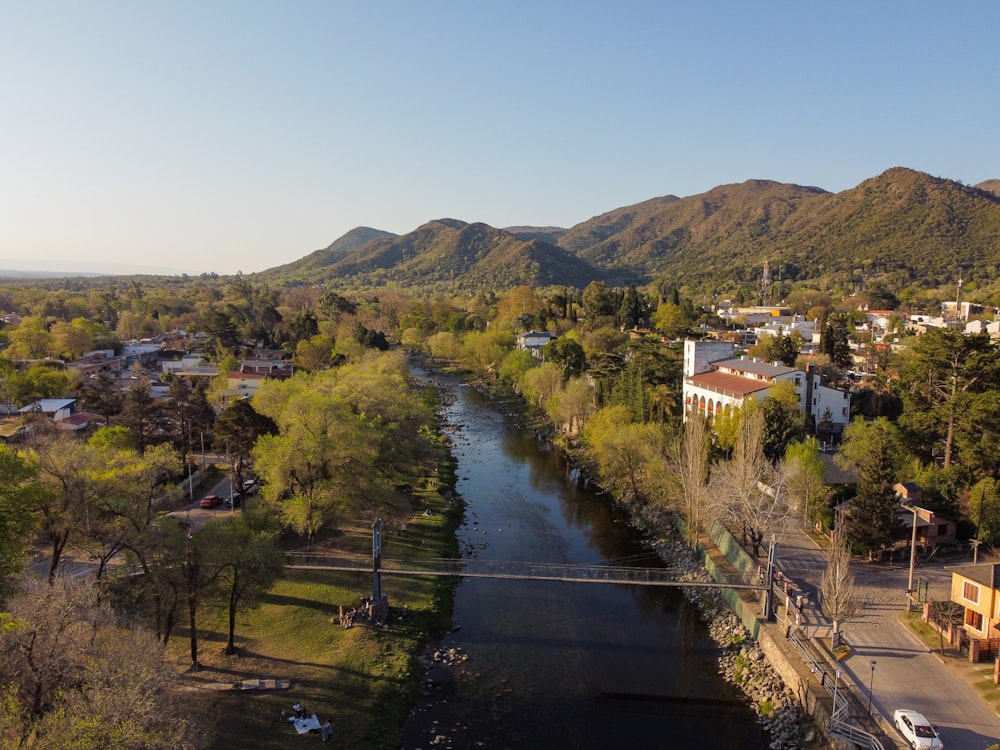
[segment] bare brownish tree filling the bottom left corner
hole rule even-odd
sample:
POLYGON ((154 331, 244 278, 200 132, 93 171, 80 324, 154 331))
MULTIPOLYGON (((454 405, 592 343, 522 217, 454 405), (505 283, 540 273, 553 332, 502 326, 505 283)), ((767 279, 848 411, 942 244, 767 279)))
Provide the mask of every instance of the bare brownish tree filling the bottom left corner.
POLYGON ((205 746, 207 717, 181 696, 162 647, 87 585, 29 586, 0 625, 3 747, 205 746))

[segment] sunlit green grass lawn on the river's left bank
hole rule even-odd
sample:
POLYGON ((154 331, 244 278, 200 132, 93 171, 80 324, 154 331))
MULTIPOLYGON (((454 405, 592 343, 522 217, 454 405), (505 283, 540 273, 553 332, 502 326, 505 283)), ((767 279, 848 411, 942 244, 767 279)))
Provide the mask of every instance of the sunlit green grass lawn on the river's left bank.
MULTIPOLYGON (((456 555, 454 519, 458 503, 432 489, 418 493, 420 507, 405 537, 383 537, 383 554, 404 545, 408 556, 456 555), (432 515, 424 515, 430 508, 432 515)), ((206 614, 199 623, 198 672, 186 672, 200 705, 216 718, 218 735, 206 747, 242 750, 312 744, 318 737, 297 735, 279 720, 281 710, 299 701, 320 721, 330 719, 340 747, 398 748, 400 726, 420 692, 418 659, 429 639, 447 629, 454 579, 383 576, 391 618, 385 629, 360 618, 344 629, 338 610, 370 596, 370 573, 289 570, 262 606, 241 614, 236 627, 239 654, 225 656, 225 617, 206 614), (289 679, 289 690, 220 689, 243 679, 289 679)), ((189 640, 179 632, 170 642, 178 669, 190 664, 189 640)))

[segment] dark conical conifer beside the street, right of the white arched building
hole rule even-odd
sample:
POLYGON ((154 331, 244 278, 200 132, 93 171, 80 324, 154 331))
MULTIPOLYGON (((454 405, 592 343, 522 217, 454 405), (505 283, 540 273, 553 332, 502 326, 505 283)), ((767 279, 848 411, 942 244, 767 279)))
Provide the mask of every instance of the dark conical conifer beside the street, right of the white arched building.
POLYGON ((871 557, 903 535, 896 513, 896 474, 903 455, 896 427, 885 418, 853 422, 844 431, 841 463, 858 472, 858 493, 851 505, 847 541, 871 557))

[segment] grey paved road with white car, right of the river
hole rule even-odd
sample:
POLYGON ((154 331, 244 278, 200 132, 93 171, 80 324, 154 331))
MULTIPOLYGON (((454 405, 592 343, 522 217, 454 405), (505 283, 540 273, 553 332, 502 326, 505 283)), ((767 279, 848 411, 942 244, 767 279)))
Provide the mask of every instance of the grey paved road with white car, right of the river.
MULTIPOLYGON (((826 565, 826 557, 815 542, 798 528, 786 528, 778 537, 778 567, 809 596, 806 633, 828 637, 830 623, 815 606, 815 592, 826 565)), ((892 712, 913 708, 925 714, 939 729, 948 750, 985 750, 1000 741, 1000 717, 979 694, 929 652, 899 622, 906 609, 909 558, 893 564, 852 564, 856 584, 864 601, 857 616, 843 627, 852 654, 840 663, 843 677, 867 707, 871 686, 872 713, 880 714, 887 734, 892 712), (875 662, 874 669, 872 662, 875 662)), ((915 568, 914 582, 926 581, 930 599, 947 599, 951 574, 941 563, 915 568)), ((899 740, 899 747, 905 747, 899 740)))

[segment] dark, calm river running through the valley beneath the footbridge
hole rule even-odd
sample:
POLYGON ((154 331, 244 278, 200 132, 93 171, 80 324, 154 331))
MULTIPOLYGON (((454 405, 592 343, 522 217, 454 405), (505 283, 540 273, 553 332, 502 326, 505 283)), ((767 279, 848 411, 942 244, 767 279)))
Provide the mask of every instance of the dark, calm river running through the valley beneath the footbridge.
MULTIPOLYGON (((466 556, 654 567, 655 555, 565 459, 457 381, 445 420, 466 556)), ((456 629, 403 727, 422 748, 757 750, 762 732, 717 674, 716 646, 673 588, 465 579, 456 629), (465 660, 463 660, 465 659, 465 660)))

